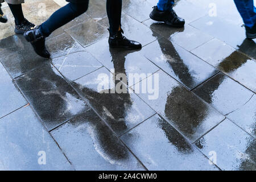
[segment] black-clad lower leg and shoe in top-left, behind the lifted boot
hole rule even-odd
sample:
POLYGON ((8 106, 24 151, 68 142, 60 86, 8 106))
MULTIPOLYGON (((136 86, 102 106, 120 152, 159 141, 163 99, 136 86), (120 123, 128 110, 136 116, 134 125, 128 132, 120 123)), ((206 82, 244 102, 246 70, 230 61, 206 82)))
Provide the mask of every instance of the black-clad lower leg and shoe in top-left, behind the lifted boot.
MULTIPOLYGON (((4 0, 0 0, 0 3, 4 0)), ((35 27, 35 24, 28 22, 26 18, 24 18, 23 11, 22 11, 22 3, 24 0, 5 0, 10 9, 11 13, 14 16, 15 21, 15 33, 16 34, 24 34, 24 32, 31 30, 35 27)))

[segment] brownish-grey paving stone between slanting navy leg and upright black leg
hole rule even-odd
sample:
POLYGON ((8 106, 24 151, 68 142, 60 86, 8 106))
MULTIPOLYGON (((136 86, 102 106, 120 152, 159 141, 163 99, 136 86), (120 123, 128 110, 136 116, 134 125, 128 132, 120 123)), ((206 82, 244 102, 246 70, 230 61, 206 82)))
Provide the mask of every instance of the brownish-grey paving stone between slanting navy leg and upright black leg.
POLYGON ((84 47, 109 36, 107 28, 90 18, 65 31, 84 47))

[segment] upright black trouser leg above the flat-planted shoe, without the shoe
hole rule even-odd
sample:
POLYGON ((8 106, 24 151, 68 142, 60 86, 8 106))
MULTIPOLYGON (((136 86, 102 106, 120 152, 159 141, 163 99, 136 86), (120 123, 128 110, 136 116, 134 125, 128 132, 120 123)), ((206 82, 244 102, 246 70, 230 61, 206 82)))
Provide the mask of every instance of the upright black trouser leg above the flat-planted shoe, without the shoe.
POLYGON ((107 0, 106 10, 109 18, 110 36, 117 34, 121 26, 122 0, 107 0))

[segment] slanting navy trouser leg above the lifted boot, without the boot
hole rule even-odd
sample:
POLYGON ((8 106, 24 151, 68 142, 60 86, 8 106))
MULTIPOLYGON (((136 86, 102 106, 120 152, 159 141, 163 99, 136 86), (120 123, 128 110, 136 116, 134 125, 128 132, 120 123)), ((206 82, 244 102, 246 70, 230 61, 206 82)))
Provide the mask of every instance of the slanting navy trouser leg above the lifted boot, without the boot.
POLYGON ((46 22, 40 26, 40 31, 44 36, 49 36, 57 28, 75 19, 77 16, 85 13, 88 9, 88 1, 85 3, 68 3, 68 5, 61 7, 55 11, 46 22))

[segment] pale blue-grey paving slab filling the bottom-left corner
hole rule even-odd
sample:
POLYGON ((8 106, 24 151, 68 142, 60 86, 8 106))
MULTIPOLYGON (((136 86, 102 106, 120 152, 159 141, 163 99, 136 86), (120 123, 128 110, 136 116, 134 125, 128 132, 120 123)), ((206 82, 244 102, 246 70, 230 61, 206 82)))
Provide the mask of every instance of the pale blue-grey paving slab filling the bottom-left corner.
POLYGON ((0 170, 73 169, 29 106, 0 119, 0 137, 0 170))

